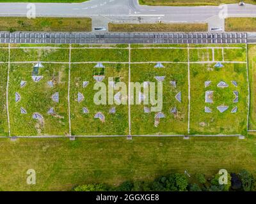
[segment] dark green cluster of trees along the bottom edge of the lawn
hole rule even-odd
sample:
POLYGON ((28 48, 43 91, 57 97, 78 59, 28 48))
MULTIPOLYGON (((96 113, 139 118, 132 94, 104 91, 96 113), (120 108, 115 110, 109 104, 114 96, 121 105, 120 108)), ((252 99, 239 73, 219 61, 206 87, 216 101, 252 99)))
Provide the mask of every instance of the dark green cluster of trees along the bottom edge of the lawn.
POLYGON ((119 186, 85 184, 74 191, 256 191, 256 180, 252 173, 241 170, 227 175, 227 183, 220 184, 220 174, 205 178, 203 173, 188 177, 182 173, 170 173, 148 181, 125 181, 119 186))

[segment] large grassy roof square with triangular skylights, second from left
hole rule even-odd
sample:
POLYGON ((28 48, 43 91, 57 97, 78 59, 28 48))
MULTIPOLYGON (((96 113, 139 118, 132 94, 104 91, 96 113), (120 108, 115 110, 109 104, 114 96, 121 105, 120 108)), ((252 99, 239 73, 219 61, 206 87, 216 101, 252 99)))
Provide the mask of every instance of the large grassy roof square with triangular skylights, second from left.
MULTIPOLYGON (((128 106, 116 105, 113 100, 113 105, 95 105, 93 96, 98 89, 94 90, 97 82, 94 80, 94 75, 104 73, 104 82, 107 85, 109 77, 116 78, 116 82, 128 82, 128 66, 125 64, 104 64, 105 68, 93 68, 95 64, 72 64, 71 67, 71 124, 72 135, 128 135, 128 106), (83 87, 83 82, 89 82, 86 87, 83 87), (77 101, 77 94, 80 92, 84 96, 84 100, 77 101), (88 108, 89 113, 83 113, 83 108, 88 108), (109 113, 111 108, 116 108, 115 113, 109 113), (95 119, 96 113, 103 113, 105 120, 95 119)), ((128 87, 128 85, 127 85, 128 87)), ((116 94, 119 90, 113 91, 116 94)), ((127 101, 127 94, 124 96, 127 101)), ((108 101, 108 95, 107 99, 108 101)))

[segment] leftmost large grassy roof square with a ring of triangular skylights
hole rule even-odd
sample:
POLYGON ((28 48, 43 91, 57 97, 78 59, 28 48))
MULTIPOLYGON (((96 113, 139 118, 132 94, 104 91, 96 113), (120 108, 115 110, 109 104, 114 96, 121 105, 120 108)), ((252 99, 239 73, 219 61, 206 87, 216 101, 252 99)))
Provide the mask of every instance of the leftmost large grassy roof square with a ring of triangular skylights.
POLYGON ((44 76, 39 82, 31 78, 35 64, 12 64, 10 69, 9 106, 12 135, 67 135, 68 105, 67 105, 67 64, 44 64, 38 76, 44 76), (21 81, 26 81, 20 87, 21 81), (47 82, 54 82, 50 87, 47 82), (15 92, 20 94, 20 101, 15 103, 15 92), (52 94, 59 92, 60 103, 52 101, 52 94), (27 114, 21 114, 20 108, 25 108, 27 114), (49 108, 54 108, 54 114, 47 114, 49 108), (38 112, 44 121, 32 119, 38 112))

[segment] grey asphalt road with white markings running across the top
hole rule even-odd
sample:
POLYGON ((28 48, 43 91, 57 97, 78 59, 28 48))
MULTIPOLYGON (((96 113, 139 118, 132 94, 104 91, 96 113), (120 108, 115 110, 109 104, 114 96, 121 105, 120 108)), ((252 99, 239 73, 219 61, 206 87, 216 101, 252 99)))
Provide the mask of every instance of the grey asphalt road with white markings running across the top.
MULTIPOLYGON (((0 16, 26 16, 28 3, 0 3, 0 16)), ((36 17, 104 17, 108 21, 203 22, 217 16, 219 6, 141 6, 138 0, 91 0, 84 3, 35 3, 36 17)), ((227 5, 228 17, 256 17, 256 5, 227 5)))

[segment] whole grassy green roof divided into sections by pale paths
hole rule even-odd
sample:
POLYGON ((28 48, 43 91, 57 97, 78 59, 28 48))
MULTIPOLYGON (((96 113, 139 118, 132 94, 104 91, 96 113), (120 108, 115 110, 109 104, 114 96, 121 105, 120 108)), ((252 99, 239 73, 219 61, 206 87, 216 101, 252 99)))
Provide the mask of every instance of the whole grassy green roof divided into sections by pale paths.
MULTIPOLYGON (((3 119, 0 124, 0 134, 6 136, 8 133, 6 62, 9 59, 6 45, 0 49, 3 50, 0 55, 1 69, 3 69, 0 101, 4 110, 1 116, 3 119)), ((69 131, 74 136, 129 135, 129 127, 131 127, 131 135, 247 135, 246 73, 244 45, 131 45, 129 52, 127 45, 70 45, 69 47, 69 45, 13 44, 10 45, 8 87, 11 135, 67 136, 69 131), (33 66, 38 61, 42 62, 44 68, 39 68, 36 75, 43 78, 39 82, 33 82, 31 77, 33 66), (214 64, 218 61, 224 65, 223 68, 214 68, 214 64), (95 68, 97 62, 102 62, 105 68, 95 68), (156 62, 163 63, 164 68, 154 68, 156 62), (68 85, 69 73, 70 85, 68 85), (126 88, 129 87, 128 81, 143 84, 157 82, 155 77, 163 76, 165 77, 162 83, 163 107, 161 110, 145 112, 145 108, 151 109, 156 106, 152 99, 159 98, 158 88, 154 92, 154 98, 150 98, 149 104, 132 104, 131 110, 127 105, 129 99, 127 89, 121 94, 126 105, 118 105, 115 100, 109 104, 108 98, 106 104, 97 105, 93 102, 98 92, 93 77, 99 75, 104 76, 102 82, 107 86, 112 78, 115 83, 124 82, 126 88), (207 80, 211 80, 212 84, 205 88, 204 83, 207 80), (228 87, 221 89, 216 86, 222 80, 227 82, 228 87), (237 87, 231 84, 233 80, 237 82, 237 87), (20 87, 21 81, 26 81, 27 84, 20 87), (53 87, 47 84, 49 81, 55 83, 53 87), (176 83, 176 87, 170 84, 171 81, 176 83), (83 87, 83 82, 88 82, 88 85, 83 87), (214 91, 213 103, 205 103, 206 91, 214 91), (234 91, 239 92, 238 103, 232 102, 234 91), (18 102, 15 102, 16 92, 20 96, 18 102), (56 92, 59 93, 59 103, 51 98, 56 92), (175 98, 179 92, 180 102, 175 98), (79 102, 77 97, 80 93, 83 94, 84 99, 79 102), (70 98, 70 116, 68 98, 70 98), (228 110, 223 113, 218 112, 216 108, 220 105, 227 105, 228 110), (212 113, 205 113, 205 106, 208 106, 212 113), (236 106, 237 112, 230 113, 236 106), (21 108, 27 113, 22 114, 21 108), (54 109, 54 114, 47 113, 50 108, 54 109), (84 112, 84 108, 88 113, 84 112), (115 108, 115 113, 110 113, 112 108, 115 108), (171 112, 172 110, 176 111, 171 112), (159 112, 164 114, 160 120, 155 118, 159 112), (33 113, 40 113, 44 121, 32 119, 33 113), (104 119, 95 118, 97 113, 102 114, 104 119)), ((120 87, 116 87, 113 94, 118 94, 120 91, 122 91, 120 87)), ((135 91, 134 95, 137 93, 136 89, 132 91, 135 91)), ((141 93, 143 94, 144 91, 141 93)), ((109 87, 106 93, 108 96, 109 87)))

